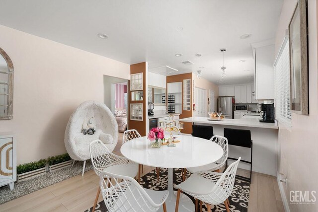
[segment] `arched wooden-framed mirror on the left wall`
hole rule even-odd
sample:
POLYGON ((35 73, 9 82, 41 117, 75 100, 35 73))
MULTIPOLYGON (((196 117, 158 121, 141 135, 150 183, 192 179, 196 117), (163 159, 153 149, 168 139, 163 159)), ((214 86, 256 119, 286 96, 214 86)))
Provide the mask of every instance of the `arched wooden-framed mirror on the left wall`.
POLYGON ((12 119, 13 64, 0 48, 0 120, 12 119))

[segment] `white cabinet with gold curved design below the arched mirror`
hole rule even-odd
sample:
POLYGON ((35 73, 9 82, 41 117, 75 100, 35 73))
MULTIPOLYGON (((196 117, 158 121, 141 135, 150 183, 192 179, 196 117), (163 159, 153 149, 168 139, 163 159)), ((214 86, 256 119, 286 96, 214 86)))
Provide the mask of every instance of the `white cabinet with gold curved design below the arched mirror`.
POLYGON ((13 189, 16 181, 16 137, 13 133, 0 133, 0 186, 13 189))

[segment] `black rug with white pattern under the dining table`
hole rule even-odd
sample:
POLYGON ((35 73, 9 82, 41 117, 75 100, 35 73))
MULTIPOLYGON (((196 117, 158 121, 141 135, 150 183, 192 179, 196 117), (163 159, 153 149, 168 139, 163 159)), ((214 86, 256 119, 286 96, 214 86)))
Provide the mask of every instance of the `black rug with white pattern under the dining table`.
MULTIPOLYGON (((157 179, 156 169, 152 170, 140 180, 140 185, 147 189, 162 191, 168 187, 168 170, 160 169, 160 180, 157 179)), ((190 173, 187 173, 190 176, 190 173)), ((173 185, 180 184, 182 182, 182 174, 180 169, 173 170, 173 185)), ((188 195, 189 196, 189 195, 188 195)), ((189 196, 193 203, 194 198, 189 196)), ((233 192, 229 197, 230 211, 231 212, 247 212, 249 199, 249 183, 236 179, 233 192)), ((92 208, 87 209, 85 212, 91 212, 92 208)), ((202 207, 203 212, 207 211, 205 206, 202 207)), ((225 212, 226 208, 224 204, 211 207, 212 212, 225 212)), ((107 212, 104 201, 97 204, 95 212, 107 212)))

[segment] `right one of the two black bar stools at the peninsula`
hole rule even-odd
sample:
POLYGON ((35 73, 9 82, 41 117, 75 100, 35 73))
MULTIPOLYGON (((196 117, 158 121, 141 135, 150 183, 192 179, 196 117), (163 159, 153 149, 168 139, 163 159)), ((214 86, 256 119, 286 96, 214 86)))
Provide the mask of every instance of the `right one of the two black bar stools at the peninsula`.
MULTIPOLYGON (((240 162, 250 164, 249 178, 236 175, 238 179, 247 180, 250 183, 252 180, 252 157, 253 157, 253 141, 251 140, 251 137, 250 137, 250 131, 224 128, 224 137, 228 139, 229 145, 250 148, 250 161, 240 160, 240 162)), ((232 157, 228 157, 228 159, 238 160, 237 158, 232 158, 232 157)), ((228 167, 228 161, 226 162, 226 167, 228 167)))

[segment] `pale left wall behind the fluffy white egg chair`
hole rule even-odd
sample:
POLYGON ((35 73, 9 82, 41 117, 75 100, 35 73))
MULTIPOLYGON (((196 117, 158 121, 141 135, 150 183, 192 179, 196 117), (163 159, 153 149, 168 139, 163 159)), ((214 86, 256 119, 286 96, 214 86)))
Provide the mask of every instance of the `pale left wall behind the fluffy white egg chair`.
POLYGON ((103 76, 129 79, 130 66, 0 25, 0 47, 14 66, 13 119, 17 163, 65 153, 69 117, 83 101, 104 101, 103 76))

